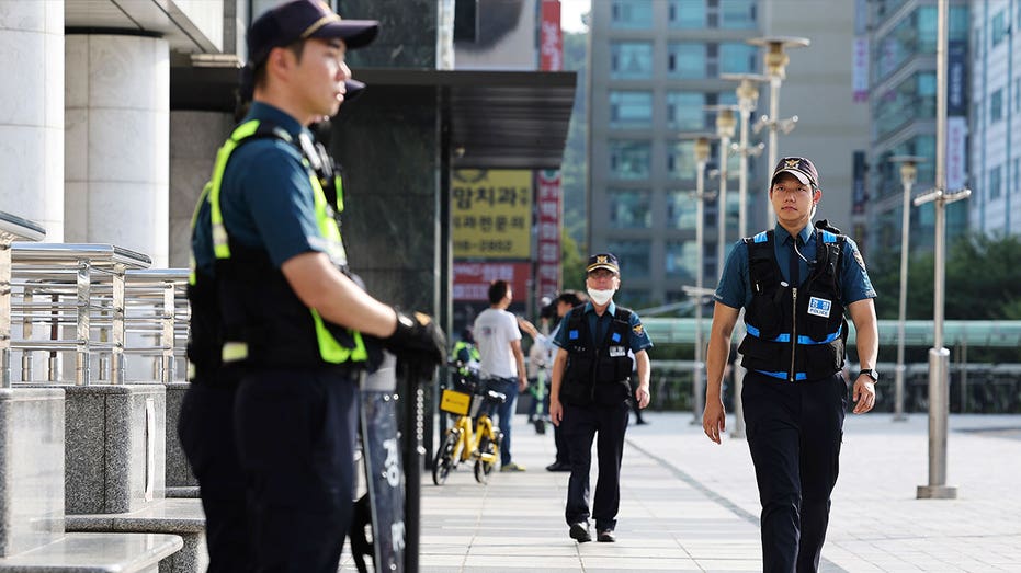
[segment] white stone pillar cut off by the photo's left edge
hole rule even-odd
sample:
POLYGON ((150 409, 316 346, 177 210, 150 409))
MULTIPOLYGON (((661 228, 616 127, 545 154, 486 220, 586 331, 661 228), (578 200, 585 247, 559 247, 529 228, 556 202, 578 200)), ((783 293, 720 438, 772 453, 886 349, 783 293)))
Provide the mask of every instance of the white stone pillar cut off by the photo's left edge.
POLYGON ((64 0, 0 3, 0 205, 64 238, 64 0))

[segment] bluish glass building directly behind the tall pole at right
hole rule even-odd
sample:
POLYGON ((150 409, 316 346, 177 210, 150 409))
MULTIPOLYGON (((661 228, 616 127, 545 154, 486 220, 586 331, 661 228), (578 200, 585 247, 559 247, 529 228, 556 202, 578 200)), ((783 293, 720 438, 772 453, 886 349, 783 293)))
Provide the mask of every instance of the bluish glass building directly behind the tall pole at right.
MULTIPOLYGON (((949 12, 948 186, 972 184, 974 170, 964 161, 967 147, 968 102, 963 89, 967 73, 968 2, 951 0, 949 12), (956 82, 956 83, 955 83, 956 82), (953 87, 956 85, 956 89, 953 87), (960 151, 955 153, 955 150, 960 151), (969 175, 971 173, 971 175, 969 175)), ((866 252, 899 252, 904 187, 894 156, 920 156, 914 193, 932 188, 935 179, 937 24, 935 0, 872 0, 870 18, 870 102, 872 151, 869 158, 867 225, 854 233, 866 252)), ((946 208, 946 238, 951 244, 967 231, 969 202, 946 208)), ((931 251, 934 209, 911 208, 910 250, 931 251)))

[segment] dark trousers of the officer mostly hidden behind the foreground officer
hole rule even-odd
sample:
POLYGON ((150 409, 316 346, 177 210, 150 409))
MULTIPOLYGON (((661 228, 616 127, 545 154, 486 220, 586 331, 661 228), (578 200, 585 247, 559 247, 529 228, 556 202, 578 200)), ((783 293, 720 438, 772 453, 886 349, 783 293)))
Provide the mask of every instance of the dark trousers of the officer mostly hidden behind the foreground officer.
POLYGON ((245 474, 234 439, 236 383, 192 380, 181 402, 178 436, 202 489, 209 550, 207 573, 252 571, 245 474))

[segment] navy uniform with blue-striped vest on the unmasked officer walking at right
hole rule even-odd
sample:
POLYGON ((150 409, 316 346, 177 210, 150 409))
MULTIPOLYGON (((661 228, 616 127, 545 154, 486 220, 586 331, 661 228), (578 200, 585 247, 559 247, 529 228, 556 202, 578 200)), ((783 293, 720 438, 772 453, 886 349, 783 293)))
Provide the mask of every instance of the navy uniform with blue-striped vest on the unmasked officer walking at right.
POLYGON ((848 409, 844 309, 876 296, 854 241, 820 222, 737 242, 715 293, 745 308, 741 400, 765 571, 818 569, 848 409))

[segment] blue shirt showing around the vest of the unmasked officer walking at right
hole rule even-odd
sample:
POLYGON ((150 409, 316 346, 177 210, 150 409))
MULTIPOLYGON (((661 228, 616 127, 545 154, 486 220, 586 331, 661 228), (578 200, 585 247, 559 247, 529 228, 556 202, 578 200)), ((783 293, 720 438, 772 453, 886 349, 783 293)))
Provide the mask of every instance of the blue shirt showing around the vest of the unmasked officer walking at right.
MULTIPOLYGON (((791 241, 794 238, 776 224, 774 228, 773 248, 776 254, 776 263, 784 280, 790 282, 789 268, 794 254, 791 241)), ((815 261, 816 257, 816 233, 812 225, 806 225, 801 232, 798 252, 808 260, 815 261)), ((808 263, 798 257, 798 276, 804 282, 808 277, 808 263)), ((847 307, 851 302, 856 302, 866 298, 875 298, 875 289, 872 287, 872 280, 869 279, 869 272, 865 271, 865 263, 861 253, 858 251, 858 244, 848 237, 843 243, 843 259, 840 268, 840 288, 842 293, 842 302, 847 307)), ((716 287, 714 297, 718 302, 730 308, 739 309, 751 303, 751 284, 748 279, 748 245, 744 241, 738 241, 730 250, 727 256, 727 264, 724 267, 719 285, 716 287)))

